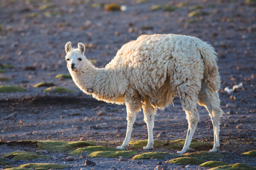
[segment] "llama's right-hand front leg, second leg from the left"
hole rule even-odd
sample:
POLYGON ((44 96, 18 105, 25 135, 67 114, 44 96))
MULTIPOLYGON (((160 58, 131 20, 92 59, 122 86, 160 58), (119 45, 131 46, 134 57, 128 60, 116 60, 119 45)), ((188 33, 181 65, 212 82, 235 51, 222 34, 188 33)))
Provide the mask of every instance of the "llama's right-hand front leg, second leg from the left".
POLYGON ((151 106, 148 100, 145 100, 145 105, 143 105, 142 107, 143 107, 143 113, 144 113, 144 121, 146 122, 148 127, 148 144, 147 146, 143 147, 143 149, 144 150, 154 149, 153 128, 154 128, 154 114, 156 112, 156 109, 151 106))

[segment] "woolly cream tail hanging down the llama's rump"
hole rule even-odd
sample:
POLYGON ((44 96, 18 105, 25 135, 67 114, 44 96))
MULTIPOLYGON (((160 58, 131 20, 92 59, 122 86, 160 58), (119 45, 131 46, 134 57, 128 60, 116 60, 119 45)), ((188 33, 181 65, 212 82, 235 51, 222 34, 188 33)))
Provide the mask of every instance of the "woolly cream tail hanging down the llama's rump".
POLYGON ((204 80, 207 88, 218 91, 220 89, 221 80, 216 63, 217 53, 214 51, 212 45, 207 42, 198 43, 197 48, 204 60, 204 80))

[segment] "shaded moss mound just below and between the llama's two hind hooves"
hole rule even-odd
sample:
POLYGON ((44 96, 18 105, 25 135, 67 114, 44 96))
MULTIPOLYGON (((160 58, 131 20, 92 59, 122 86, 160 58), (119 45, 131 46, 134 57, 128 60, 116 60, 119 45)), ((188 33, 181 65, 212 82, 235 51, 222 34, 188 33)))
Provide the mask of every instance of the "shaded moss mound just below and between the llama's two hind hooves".
POLYGON ((185 153, 183 156, 186 157, 195 157, 204 161, 218 161, 221 158, 224 158, 223 155, 212 152, 195 152, 195 153, 185 153))

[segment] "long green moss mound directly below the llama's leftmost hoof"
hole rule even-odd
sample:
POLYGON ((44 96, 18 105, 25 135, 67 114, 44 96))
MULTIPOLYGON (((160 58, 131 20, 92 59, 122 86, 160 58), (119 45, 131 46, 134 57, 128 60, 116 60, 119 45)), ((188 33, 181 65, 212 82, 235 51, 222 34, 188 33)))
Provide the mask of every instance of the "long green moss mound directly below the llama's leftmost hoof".
POLYGON ((131 156, 138 155, 139 153, 129 150, 129 151, 96 151, 93 153, 90 153, 89 157, 111 157, 111 158, 118 158, 119 156, 122 156, 123 158, 128 158, 131 156))

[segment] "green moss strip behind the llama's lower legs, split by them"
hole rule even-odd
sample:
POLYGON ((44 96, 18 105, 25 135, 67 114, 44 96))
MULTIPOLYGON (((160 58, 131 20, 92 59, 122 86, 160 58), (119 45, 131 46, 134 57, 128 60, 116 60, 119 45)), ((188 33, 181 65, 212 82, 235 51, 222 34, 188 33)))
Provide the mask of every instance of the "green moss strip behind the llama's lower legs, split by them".
MULTIPOLYGON (((142 149, 143 146, 146 146, 148 140, 139 140, 139 141, 132 141, 130 145, 132 149, 142 149)), ((185 139, 177 139, 172 141, 154 141, 154 148, 166 148, 166 149, 182 149, 185 144, 185 139)), ((208 150, 212 147, 212 144, 199 142, 192 140, 190 147, 195 150, 208 150)))

